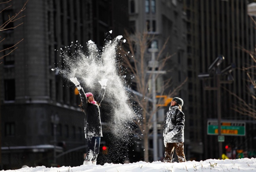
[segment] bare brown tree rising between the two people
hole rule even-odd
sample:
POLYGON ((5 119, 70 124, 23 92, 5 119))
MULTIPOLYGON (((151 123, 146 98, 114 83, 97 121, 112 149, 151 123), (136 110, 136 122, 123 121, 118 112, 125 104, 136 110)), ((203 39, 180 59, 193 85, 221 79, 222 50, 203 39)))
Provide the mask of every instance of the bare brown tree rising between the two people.
MULTIPOLYGON (((144 160, 148 162, 148 138, 152 134, 152 126, 153 126, 153 114, 160 108, 157 107, 155 112, 152 110, 152 102, 150 102, 150 98, 152 98, 152 89, 151 86, 151 75, 148 74, 148 61, 150 60, 150 56, 147 55, 148 44, 154 39, 152 36, 147 33, 136 33, 134 35, 129 35, 127 32, 125 34, 126 45, 127 47, 121 49, 121 55, 124 56, 123 59, 123 67, 126 69, 126 75, 131 75, 132 79, 127 82, 131 84, 131 87, 135 87, 135 90, 139 92, 138 94, 132 94, 132 100, 135 103, 135 107, 137 109, 138 117, 134 119, 134 123, 136 124, 136 129, 139 131, 138 137, 143 140, 143 145, 145 148, 144 151, 144 160)), ((172 55, 165 54, 165 47, 167 45, 168 39, 163 44, 163 47, 160 49, 157 54, 156 60, 159 62, 158 70, 161 71, 165 69, 165 64, 172 55)), ((160 78, 160 74, 156 74, 156 80, 160 78)), ((182 89, 182 85, 187 81, 183 81, 180 86, 171 88, 171 77, 163 81, 161 85, 160 95, 163 95, 165 92, 168 97, 174 96, 178 93, 180 89, 182 89), (167 90, 170 91, 167 91, 167 90), (168 92, 168 93, 166 93, 168 92)), ((159 84, 158 84, 159 85, 159 84)), ((164 104, 163 100, 159 99, 157 104, 164 104)))

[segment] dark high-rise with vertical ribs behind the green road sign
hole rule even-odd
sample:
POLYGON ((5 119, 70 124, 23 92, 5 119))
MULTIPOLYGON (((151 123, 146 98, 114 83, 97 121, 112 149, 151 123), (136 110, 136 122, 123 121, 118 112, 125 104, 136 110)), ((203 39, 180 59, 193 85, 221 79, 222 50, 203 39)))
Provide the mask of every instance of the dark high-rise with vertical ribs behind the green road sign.
MULTIPOLYGON (((234 92, 247 103, 255 105, 255 100, 248 94, 246 82, 246 72, 241 69, 248 65, 253 65, 250 56, 244 49, 254 50, 255 27, 252 19, 247 15, 247 0, 193 0, 183 1, 184 11, 187 14, 187 52, 188 67, 191 66, 192 75, 189 85, 191 85, 191 96, 189 102, 193 107, 198 106, 198 111, 193 110, 193 116, 197 118, 191 122, 193 125, 199 124, 191 132, 191 139, 202 139, 203 159, 219 158, 219 147, 217 136, 208 135, 207 121, 217 120, 218 101, 221 102, 221 119, 226 121, 243 121, 246 123, 245 136, 225 136, 225 145, 232 147, 232 152, 243 150, 248 153, 255 151, 255 120, 249 116, 243 116, 232 110, 234 105, 238 105, 238 100, 228 91, 234 92), (224 60, 219 66, 222 70, 231 63, 236 63, 236 69, 232 71, 233 83, 221 84, 221 99, 217 99, 217 91, 204 90, 205 83, 198 81, 198 74, 208 73, 208 67, 222 54, 224 60), (193 92, 193 89, 200 92, 193 92), (194 104, 196 103, 197 104, 194 104), (193 133, 193 136, 192 136, 193 133), (201 135, 201 136, 200 136, 201 135)), ((255 72, 255 68, 250 72, 255 72)), ((254 76, 255 77, 255 76, 254 76)), ((222 81, 227 81, 227 76, 221 76, 222 81)), ((210 87, 216 87, 214 80, 210 81, 210 87)), ((191 111, 192 112, 192 109, 191 111)), ((194 118, 194 117, 192 117, 194 118)), ((234 157, 233 157, 234 158, 234 157)))

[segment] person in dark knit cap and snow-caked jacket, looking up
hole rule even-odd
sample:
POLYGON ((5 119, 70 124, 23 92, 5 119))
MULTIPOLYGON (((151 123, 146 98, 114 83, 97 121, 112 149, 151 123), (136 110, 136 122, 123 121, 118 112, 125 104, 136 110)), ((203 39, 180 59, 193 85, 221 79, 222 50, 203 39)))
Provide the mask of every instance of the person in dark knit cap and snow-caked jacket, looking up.
POLYGON ((174 148, 178 156, 178 161, 186 162, 184 155, 184 121, 185 116, 182 112, 183 100, 181 98, 173 98, 169 111, 165 116, 163 128, 163 137, 165 144, 165 163, 173 162, 174 148))

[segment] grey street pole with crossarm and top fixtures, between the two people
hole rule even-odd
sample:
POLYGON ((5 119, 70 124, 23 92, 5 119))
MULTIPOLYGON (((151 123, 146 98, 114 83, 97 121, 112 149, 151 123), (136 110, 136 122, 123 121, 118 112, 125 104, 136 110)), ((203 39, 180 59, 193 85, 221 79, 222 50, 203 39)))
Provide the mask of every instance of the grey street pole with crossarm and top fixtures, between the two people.
POLYGON ((156 74, 166 74, 166 71, 156 71, 156 68, 158 68, 159 63, 155 58, 155 53, 158 52, 158 48, 156 45, 156 42, 151 43, 151 48, 148 49, 148 51, 151 53, 151 60, 148 63, 148 67, 150 67, 152 70, 147 71, 147 73, 152 74, 152 104, 153 104, 153 153, 154 153, 154 161, 158 161, 158 132, 157 132, 157 119, 156 119, 156 74))

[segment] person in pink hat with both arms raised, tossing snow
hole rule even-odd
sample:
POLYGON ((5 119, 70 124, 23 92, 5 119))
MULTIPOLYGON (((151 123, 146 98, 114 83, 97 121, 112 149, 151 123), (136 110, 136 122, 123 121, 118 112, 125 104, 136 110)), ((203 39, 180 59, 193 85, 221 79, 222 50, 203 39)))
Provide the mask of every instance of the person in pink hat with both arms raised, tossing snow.
POLYGON ((96 98, 96 101, 94 100, 91 92, 85 93, 83 91, 83 88, 80 86, 80 83, 76 78, 70 78, 70 80, 76 85, 79 91, 82 101, 80 107, 85 114, 84 132, 88 143, 88 151, 83 164, 96 165, 96 159, 100 150, 100 137, 102 137, 99 105, 104 98, 108 79, 99 81, 101 90, 98 98, 96 98))

